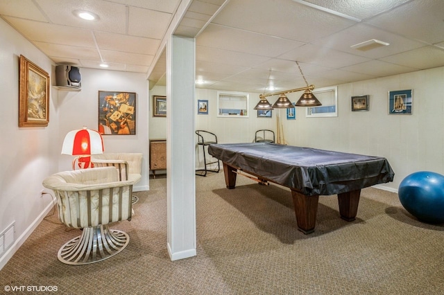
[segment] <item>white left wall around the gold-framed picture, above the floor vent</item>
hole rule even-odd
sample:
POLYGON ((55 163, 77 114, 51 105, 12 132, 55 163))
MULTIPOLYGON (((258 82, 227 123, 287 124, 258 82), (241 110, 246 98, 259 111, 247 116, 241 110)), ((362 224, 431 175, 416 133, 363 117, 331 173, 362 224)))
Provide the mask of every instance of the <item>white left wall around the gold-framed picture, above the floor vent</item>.
MULTIPOLYGON (((43 179, 58 170, 58 102, 49 98, 48 127, 18 127, 19 56, 53 77, 51 60, 0 19, 0 232, 15 222, 16 243, 0 258, 0 269, 52 208, 51 197, 41 197, 43 179)), ((50 89, 52 90, 52 89, 50 89)))

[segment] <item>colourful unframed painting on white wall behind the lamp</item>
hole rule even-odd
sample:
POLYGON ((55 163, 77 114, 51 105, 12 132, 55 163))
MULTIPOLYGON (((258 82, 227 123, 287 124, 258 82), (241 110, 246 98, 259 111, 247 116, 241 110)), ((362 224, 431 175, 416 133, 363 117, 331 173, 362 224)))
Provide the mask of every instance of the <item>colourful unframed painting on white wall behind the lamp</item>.
POLYGON ((99 132, 136 134, 136 93, 99 90, 99 132))

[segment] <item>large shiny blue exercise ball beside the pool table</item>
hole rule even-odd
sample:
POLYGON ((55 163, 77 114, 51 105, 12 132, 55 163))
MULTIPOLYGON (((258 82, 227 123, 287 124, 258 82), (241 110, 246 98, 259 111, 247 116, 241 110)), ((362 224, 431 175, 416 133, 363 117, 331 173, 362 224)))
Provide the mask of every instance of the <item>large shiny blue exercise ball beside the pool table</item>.
POLYGON ((435 172, 414 172, 401 181, 400 202, 418 220, 444 222, 444 176, 435 172))

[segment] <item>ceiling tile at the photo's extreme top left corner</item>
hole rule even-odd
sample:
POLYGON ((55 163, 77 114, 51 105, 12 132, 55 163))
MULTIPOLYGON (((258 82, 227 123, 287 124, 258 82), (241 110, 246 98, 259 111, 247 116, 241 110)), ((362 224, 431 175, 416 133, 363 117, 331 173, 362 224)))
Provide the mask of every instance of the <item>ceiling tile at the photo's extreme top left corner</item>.
POLYGON ((0 1, 0 15, 48 21, 32 0, 2 0, 0 1))

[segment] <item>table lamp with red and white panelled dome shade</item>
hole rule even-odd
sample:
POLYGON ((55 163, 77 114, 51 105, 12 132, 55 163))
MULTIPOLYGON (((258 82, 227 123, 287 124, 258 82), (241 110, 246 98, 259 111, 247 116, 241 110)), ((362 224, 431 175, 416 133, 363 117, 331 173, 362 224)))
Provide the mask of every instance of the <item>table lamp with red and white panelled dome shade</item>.
POLYGON ((103 154, 103 139, 96 130, 83 129, 68 132, 62 145, 62 154, 77 156, 72 161, 72 169, 76 170, 76 161, 80 169, 92 168, 91 155, 103 154))

